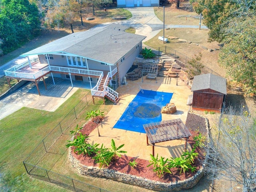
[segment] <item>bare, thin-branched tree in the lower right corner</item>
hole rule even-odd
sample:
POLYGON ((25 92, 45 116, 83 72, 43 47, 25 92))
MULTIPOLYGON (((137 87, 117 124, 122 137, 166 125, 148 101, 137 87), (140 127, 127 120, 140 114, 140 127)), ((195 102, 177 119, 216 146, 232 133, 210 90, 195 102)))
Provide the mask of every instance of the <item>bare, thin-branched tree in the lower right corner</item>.
MULTIPOLYGON (((210 179, 224 179, 256 190, 256 120, 242 106, 225 108, 217 134, 206 144, 205 171, 210 179)), ((234 187, 234 186, 233 186, 234 187)))

